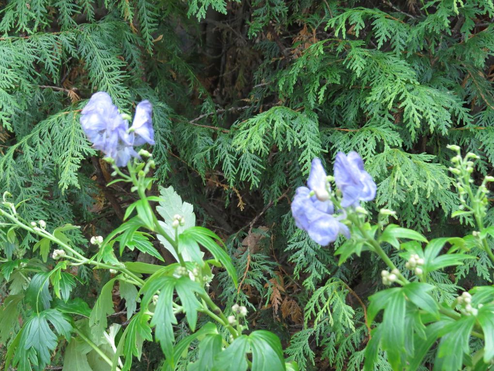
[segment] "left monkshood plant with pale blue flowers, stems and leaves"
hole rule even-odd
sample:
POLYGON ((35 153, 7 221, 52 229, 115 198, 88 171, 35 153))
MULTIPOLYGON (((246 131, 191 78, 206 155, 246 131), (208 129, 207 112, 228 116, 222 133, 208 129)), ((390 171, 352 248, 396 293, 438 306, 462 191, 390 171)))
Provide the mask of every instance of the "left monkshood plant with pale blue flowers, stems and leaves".
MULTIPOLYGON (((129 183, 139 196, 127 208, 126 221, 119 228, 106 238, 91 237, 94 254, 85 256, 82 252, 88 249, 76 246, 66 234, 78 227, 65 225, 50 231, 42 220, 26 221, 17 213, 18 205, 9 201, 9 194, 3 194, 1 226, 9 229, 11 238, 21 231, 38 238, 34 250, 39 250, 43 262, 51 258, 54 266, 44 266, 38 259, 0 260, 7 280, 20 274, 26 285, 25 292, 9 296, 0 318, 15 320, 6 317, 9 305, 22 302, 30 308, 30 317, 7 349, 6 370, 10 366, 19 371, 44 369, 60 338, 68 343, 64 370, 131 370, 132 358, 140 359, 143 342, 153 338, 165 355, 163 370, 174 370, 193 342, 199 342, 199 353, 187 370, 298 370, 296 363, 285 361, 276 335, 266 330, 245 333, 245 306, 235 304, 222 310, 211 299, 208 287, 213 269, 225 270, 237 285, 236 270, 221 239, 195 226, 192 206, 182 203, 173 188, 162 188, 159 197, 147 194, 154 182, 148 175, 155 163, 151 153, 144 149, 136 152, 134 146, 154 143, 151 113, 151 104, 140 102, 128 128, 129 117, 101 92, 95 93, 82 110, 84 132, 94 148, 108 156, 117 176, 111 183, 129 183), (159 206, 152 207, 152 202, 159 206), (156 234, 176 261, 164 261, 151 243, 150 233, 156 234), (115 251, 117 245, 120 255, 125 249, 138 249, 163 264, 121 261, 115 251), (82 266, 107 270, 111 275, 93 308, 82 299, 70 300, 76 281, 69 272, 82 266), (112 290, 116 284, 125 299, 127 321, 108 326, 114 314, 112 290), (178 340, 174 325, 182 315, 190 334, 178 340)), ((0 329, 0 342, 6 335, 0 329)))

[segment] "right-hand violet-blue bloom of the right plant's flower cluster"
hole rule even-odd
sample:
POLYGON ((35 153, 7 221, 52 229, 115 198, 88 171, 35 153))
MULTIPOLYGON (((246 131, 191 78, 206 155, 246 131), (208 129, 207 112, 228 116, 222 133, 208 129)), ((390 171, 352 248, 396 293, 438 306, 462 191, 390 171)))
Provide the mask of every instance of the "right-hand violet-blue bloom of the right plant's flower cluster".
POLYGON ((357 152, 338 152, 334 161, 334 182, 341 190, 342 207, 359 206, 359 201, 371 201, 377 186, 364 170, 364 161, 357 152))

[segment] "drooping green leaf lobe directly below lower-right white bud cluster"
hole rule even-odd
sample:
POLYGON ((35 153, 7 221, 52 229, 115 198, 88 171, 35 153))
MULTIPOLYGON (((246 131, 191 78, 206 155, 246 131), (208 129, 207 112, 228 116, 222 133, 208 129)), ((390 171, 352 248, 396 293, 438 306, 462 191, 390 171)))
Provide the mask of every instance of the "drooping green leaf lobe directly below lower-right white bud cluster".
POLYGON ((461 370, 464 354, 470 353, 470 332, 474 324, 474 316, 462 316, 458 320, 451 321, 448 325, 443 326, 440 332, 442 338, 436 355, 436 358, 441 359, 441 362, 436 361, 434 370, 461 370), (439 368, 439 364, 441 364, 441 368, 439 368))

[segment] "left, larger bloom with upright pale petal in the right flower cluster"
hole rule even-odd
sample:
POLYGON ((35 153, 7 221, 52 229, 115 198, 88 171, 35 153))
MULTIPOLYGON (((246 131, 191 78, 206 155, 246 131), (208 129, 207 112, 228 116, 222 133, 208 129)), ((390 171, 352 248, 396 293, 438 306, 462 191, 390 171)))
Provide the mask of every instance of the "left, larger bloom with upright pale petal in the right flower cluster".
POLYGON ((312 160, 307 185, 310 189, 297 188, 291 203, 295 225, 323 246, 334 242, 339 233, 350 238, 348 227, 333 215, 334 206, 329 201, 329 182, 319 158, 312 160))

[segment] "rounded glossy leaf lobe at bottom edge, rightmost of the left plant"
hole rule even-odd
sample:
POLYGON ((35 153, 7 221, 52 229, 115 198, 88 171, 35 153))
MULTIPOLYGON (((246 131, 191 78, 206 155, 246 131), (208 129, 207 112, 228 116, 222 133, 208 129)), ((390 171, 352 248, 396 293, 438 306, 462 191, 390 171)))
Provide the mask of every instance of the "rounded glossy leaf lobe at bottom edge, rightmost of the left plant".
POLYGON ((280 338, 266 330, 248 335, 252 350, 252 371, 285 371, 285 359, 280 338))

